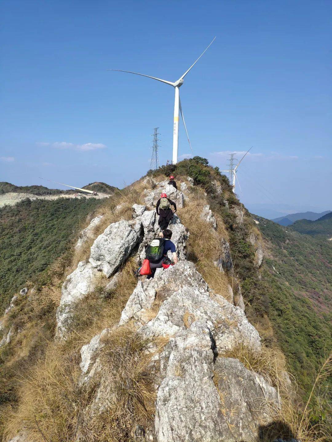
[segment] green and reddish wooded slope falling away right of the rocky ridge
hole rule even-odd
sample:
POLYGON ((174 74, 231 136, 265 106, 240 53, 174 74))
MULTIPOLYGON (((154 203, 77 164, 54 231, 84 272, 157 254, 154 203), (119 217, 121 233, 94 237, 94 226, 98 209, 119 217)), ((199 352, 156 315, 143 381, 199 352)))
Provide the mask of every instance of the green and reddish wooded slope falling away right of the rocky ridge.
POLYGON ((255 218, 270 249, 263 272, 269 317, 300 386, 308 391, 320 359, 331 350, 332 244, 255 218))

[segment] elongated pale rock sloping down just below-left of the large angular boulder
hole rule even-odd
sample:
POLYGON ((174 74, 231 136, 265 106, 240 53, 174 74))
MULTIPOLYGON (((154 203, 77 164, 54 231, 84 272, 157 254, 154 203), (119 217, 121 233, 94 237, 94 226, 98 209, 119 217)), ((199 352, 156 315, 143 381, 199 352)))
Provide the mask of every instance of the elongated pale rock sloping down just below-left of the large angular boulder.
POLYGON ((97 270, 91 263, 81 261, 67 276, 61 289, 60 305, 57 308, 57 338, 64 338, 73 316, 75 305, 96 287, 97 270))

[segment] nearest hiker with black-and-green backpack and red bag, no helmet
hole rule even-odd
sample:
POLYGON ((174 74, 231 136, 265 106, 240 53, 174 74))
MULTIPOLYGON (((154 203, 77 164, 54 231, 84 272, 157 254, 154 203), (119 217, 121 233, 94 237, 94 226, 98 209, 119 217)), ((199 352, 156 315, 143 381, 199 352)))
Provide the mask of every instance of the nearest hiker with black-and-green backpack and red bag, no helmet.
POLYGON ((167 252, 170 250, 173 255, 174 264, 178 263, 178 255, 176 253, 176 246, 171 241, 172 230, 164 230, 161 238, 154 239, 149 245, 146 259, 149 260, 151 274, 147 279, 153 278, 156 273, 156 269, 167 269, 170 265, 173 265, 172 261, 168 258, 167 252))

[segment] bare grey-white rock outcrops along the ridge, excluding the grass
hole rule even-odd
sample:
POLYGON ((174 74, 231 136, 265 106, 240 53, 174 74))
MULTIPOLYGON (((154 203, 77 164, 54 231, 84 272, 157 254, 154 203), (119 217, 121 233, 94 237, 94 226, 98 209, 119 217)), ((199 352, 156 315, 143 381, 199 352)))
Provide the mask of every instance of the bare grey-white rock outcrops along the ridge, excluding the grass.
MULTIPOLYGON (((166 191, 180 208, 190 198, 191 185, 190 181, 181 183, 181 190, 176 191, 167 181, 153 183, 152 191, 145 190, 145 205, 133 206, 131 220, 113 223, 95 238, 88 260, 81 261, 63 283, 57 308, 56 339, 67 338, 77 303, 95 289, 100 277, 116 285, 118 271, 130 256, 134 256, 137 263, 145 258, 145 247, 160 232, 154 206, 161 191, 166 191)), ((239 223, 243 222, 242 210, 237 208, 236 216, 239 223)), ((209 206, 203 208, 201 218, 208 228, 217 228, 209 206)), ((76 247, 87 238, 92 239, 98 222, 95 218, 84 229, 81 243, 76 247)), ((223 355, 237 343, 259 350, 259 334, 244 314, 243 301, 233 305, 214 293, 195 264, 186 259, 190 231, 177 215, 169 228, 179 263, 164 271, 157 269, 151 280, 139 278, 119 323, 95 335, 81 349, 80 384, 84 388, 96 385, 92 403, 82 418, 82 427, 107 410, 113 394, 103 379, 101 355, 107 335, 131 323, 141 338, 149 342, 146 352, 151 354, 149 370, 154 373, 156 391, 154 419, 145 427, 132 428, 136 440, 249 442, 256 437, 262 423, 269 423, 268 404, 278 406, 279 397, 266 379, 245 368, 237 359, 223 355), (155 315, 151 317, 153 308, 155 315), (157 339, 164 339, 161 350, 157 339)), ((250 236, 249 241, 258 251, 259 267, 263 259, 259 238, 250 236)), ((221 272, 233 274, 231 251, 225 238, 215 265, 221 272)), ((233 300, 230 286, 229 291, 233 300)), ((15 304, 15 299, 11 304, 15 304)), ((11 442, 14 440, 25 439, 11 442)))

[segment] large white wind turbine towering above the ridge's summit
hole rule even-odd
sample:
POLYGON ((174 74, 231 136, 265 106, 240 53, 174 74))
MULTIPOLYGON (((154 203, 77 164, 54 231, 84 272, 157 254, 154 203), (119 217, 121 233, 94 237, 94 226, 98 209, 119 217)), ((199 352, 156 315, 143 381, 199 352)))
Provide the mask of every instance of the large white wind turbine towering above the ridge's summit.
MULTIPOLYGON (((215 37, 212 40, 212 42, 210 43, 210 45, 206 48, 206 50, 212 45, 214 40, 215 40, 215 37)), ((206 52, 206 50, 204 52, 206 52)), ((186 123, 184 122, 183 111, 182 111, 180 95, 179 95, 179 88, 180 88, 180 86, 183 85, 183 78, 187 75, 187 73, 190 71, 190 69, 197 63, 197 61, 202 57, 204 52, 202 52, 201 55, 198 57, 198 59, 195 61, 195 63, 193 65, 191 65, 191 67, 186 72, 184 72, 184 74, 182 76, 180 76, 179 80, 176 80, 174 83, 172 81, 162 80, 161 78, 156 78, 156 77, 152 77, 152 76, 149 76, 149 75, 139 74, 137 72, 123 71, 121 69, 107 69, 107 71, 128 72, 129 74, 141 75, 143 77, 152 78, 153 80, 161 81, 162 83, 169 84, 170 86, 173 86, 173 88, 175 88, 174 123, 173 123, 173 161, 172 161, 173 164, 176 164, 178 162, 179 112, 181 113, 184 129, 186 130, 186 133, 187 133, 188 143, 190 145, 191 152, 193 152, 193 150, 191 148, 191 143, 190 143, 190 140, 189 140, 189 136, 188 136, 188 131, 187 131, 186 123)))

